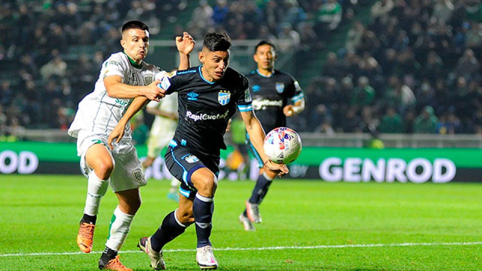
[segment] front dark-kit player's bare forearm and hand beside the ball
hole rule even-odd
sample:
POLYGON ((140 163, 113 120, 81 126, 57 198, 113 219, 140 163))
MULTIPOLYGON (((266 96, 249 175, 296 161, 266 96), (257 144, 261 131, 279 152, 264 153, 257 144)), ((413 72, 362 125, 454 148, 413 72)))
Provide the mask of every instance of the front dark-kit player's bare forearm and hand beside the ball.
POLYGON ((255 147, 258 154, 263 159, 264 165, 271 171, 278 173, 278 176, 283 176, 289 172, 288 167, 284 164, 275 164, 268 159, 263 149, 263 142, 265 140, 265 131, 259 119, 255 116, 253 111, 240 112, 243 121, 245 122, 246 131, 250 135, 250 140, 255 147))

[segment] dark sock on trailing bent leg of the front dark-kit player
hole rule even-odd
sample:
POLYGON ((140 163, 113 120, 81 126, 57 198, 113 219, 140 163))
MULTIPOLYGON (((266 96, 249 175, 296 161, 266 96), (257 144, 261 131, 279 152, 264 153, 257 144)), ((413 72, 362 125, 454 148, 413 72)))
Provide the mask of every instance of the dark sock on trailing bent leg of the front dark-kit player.
POLYGON ((161 251, 165 244, 186 230, 185 226, 183 227, 177 223, 174 215, 174 211, 166 215, 159 229, 151 236, 151 246, 155 251, 161 251))

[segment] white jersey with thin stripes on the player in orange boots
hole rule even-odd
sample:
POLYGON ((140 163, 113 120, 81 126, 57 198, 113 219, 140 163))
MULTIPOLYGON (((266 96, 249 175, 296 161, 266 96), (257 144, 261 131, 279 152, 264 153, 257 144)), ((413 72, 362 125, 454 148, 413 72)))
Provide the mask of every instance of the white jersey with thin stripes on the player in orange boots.
MULTIPOLYGON (((79 130, 87 130, 93 134, 109 134, 124 115, 133 99, 109 97, 104 86, 105 77, 118 75, 122 77, 124 84, 145 86, 151 84, 154 78, 162 78, 165 74, 166 72, 159 67, 146 62, 134 67, 124 52, 110 55, 102 63, 94 91, 79 102, 68 134, 74 138, 77 138, 79 130)), ((132 139, 130 124, 126 126, 124 139, 132 139)))

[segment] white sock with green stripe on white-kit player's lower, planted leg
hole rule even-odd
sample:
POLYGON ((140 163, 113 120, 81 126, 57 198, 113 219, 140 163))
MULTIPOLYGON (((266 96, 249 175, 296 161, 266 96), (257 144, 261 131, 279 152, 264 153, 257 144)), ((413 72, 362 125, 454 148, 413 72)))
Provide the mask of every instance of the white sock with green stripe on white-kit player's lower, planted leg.
POLYGON ((123 213, 121 209, 119 209, 119 206, 115 208, 112 219, 110 220, 109 237, 107 237, 107 242, 105 242, 106 247, 115 251, 121 249, 131 230, 133 218, 134 215, 123 213))

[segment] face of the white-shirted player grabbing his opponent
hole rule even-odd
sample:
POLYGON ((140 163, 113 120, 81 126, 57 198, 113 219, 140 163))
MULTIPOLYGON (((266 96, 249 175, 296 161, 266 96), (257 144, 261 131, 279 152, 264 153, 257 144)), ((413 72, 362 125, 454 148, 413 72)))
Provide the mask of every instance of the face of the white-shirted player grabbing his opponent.
POLYGON ((149 50, 149 32, 141 29, 128 29, 122 33, 121 45, 124 52, 139 64, 146 58, 149 50))

